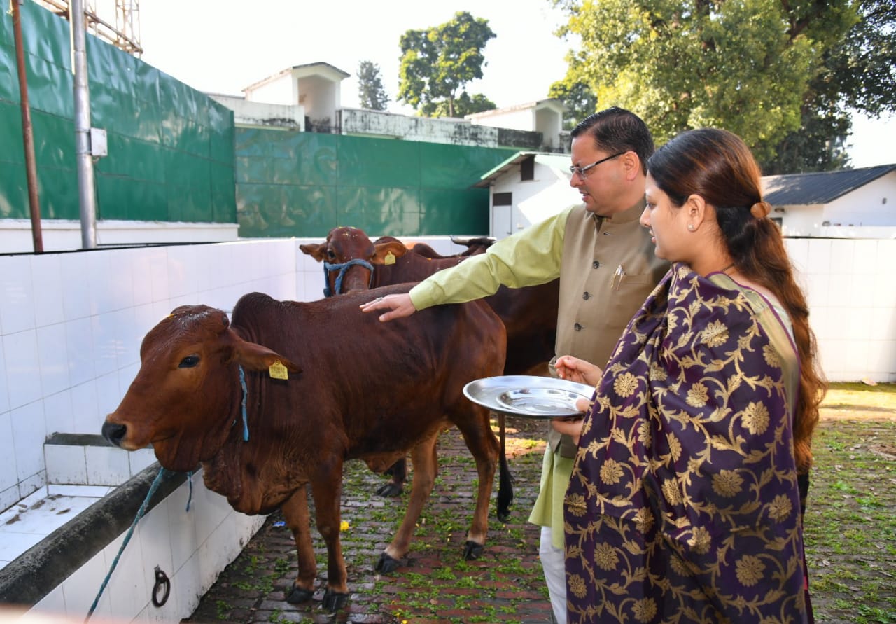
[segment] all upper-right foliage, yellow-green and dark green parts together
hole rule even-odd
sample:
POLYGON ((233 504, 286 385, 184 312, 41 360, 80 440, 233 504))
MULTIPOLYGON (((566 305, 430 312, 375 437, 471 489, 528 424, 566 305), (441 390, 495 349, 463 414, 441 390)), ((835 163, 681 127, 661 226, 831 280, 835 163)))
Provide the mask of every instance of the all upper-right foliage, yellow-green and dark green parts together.
POLYGON ((890 0, 557 4, 562 33, 582 40, 564 82, 637 112, 658 143, 719 126, 779 169, 830 168, 844 163, 845 106, 893 109, 890 0))

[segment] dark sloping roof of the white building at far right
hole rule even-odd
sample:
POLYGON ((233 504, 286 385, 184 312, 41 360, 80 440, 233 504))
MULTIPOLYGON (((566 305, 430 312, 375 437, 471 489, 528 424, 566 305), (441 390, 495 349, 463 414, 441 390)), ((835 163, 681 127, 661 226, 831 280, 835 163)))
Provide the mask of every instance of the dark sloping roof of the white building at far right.
POLYGON ((896 171, 896 163, 864 169, 793 173, 762 178, 762 195, 772 205, 830 204, 833 200, 896 171))

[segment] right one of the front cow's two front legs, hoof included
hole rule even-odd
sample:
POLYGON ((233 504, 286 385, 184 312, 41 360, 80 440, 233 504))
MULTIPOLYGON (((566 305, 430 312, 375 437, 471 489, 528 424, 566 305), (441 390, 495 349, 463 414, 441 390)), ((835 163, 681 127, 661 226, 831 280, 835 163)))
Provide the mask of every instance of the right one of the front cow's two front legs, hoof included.
POLYGON ((340 542, 340 503, 342 498, 342 460, 319 466, 318 476, 311 481, 317 530, 327 546, 327 589, 323 608, 336 611, 349 600, 345 560, 340 542))

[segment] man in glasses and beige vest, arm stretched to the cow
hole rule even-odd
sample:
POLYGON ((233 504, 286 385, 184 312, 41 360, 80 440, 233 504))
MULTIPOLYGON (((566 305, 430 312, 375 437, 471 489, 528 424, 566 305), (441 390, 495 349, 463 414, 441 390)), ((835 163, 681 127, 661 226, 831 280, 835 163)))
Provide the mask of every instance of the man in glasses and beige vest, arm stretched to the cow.
MULTIPOLYGON (((380 320, 390 321, 487 297, 501 284, 520 288, 559 277, 555 355, 606 364, 625 325, 668 270, 639 222, 653 139, 640 117, 616 107, 583 119, 572 139, 570 184, 582 194, 582 204, 435 273, 408 294, 361 309, 385 310, 380 320)), ((566 621, 563 498, 575 451, 572 438, 548 431, 541 489, 529 518, 542 527, 539 554, 557 622, 566 621)))

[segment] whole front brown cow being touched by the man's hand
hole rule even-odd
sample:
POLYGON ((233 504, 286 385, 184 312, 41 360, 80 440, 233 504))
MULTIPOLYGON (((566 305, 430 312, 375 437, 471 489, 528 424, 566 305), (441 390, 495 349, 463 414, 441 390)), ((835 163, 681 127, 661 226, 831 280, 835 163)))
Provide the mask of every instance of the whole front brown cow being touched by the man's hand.
MULTIPOLYGON (((464 553, 475 559, 486 542, 499 446, 487 410, 461 389, 473 379, 501 373, 504 327, 479 302, 440 306, 388 325, 358 309, 371 295, 408 288, 311 303, 256 292, 239 299, 232 324, 218 309, 177 308, 143 339, 141 368, 108 415, 103 435, 127 450, 151 444, 170 470, 202 464, 206 486, 237 511, 268 514, 282 508, 298 552, 289 602, 314 594, 309 485, 328 553, 323 605, 335 610, 348 597, 340 548, 343 461, 363 459, 382 471, 411 454, 408 509, 376 564, 378 571, 389 572, 409 550, 433 488, 436 440, 454 424, 478 470, 464 553), (288 379, 269 377, 275 362, 289 369, 288 379)), ((499 498, 510 488, 501 460, 499 498)))

